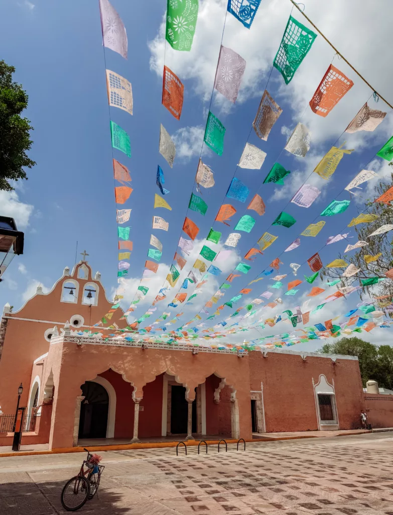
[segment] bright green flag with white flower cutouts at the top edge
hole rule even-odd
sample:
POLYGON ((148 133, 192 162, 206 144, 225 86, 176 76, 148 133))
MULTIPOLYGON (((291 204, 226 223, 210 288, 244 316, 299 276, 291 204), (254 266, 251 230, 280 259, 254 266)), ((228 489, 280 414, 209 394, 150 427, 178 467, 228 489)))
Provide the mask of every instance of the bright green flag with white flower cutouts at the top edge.
POLYGON ((190 52, 198 18, 198 0, 168 0, 165 39, 175 50, 190 52))

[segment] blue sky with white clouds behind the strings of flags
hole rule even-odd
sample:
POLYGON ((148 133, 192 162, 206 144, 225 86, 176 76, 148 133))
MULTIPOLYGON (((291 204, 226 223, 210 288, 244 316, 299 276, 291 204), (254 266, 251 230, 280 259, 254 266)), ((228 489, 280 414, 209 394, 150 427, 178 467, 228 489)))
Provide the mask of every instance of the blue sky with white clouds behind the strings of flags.
MULTIPOLYGON (((130 239, 134 242, 129 270, 131 279, 128 281, 125 294, 127 302, 133 299, 139 284, 150 235, 155 234, 163 244, 162 265, 157 277, 143 283, 150 290, 146 301, 141 303, 136 312, 138 317, 157 295, 166 277, 165 265, 171 265, 177 248, 207 119, 222 26, 226 16, 226 2, 201 0, 193 49, 186 55, 176 53, 169 45, 166 45, 165 49, 164 0, 152 0, 148 3, 147 9, 145 3, 130 3, 125 0, 113 0, 112 4, 127 29, 128 59, 124 60, 120 55, 106 49, 106 64, 107 68, 132 83, 134 96, 133 116, 119 109, 110 108, 111 119, 128 132, 132 147, 130 159, 114 150, 115 158, 130 170, 131 185, 134 188, 129 200, 124 204, 124 208, 133 210, 129 224, 125 225, 132 227, 130 239), (184 105, 180 121, 161 105, 164 55, 165 64, 184 83, 184 105), (177 145, 173 169, 158 152, 160 123, 173 135, 177 145), (172 211, 153 209, 154 194, 159 193, 155 183, 157 164, 164 171, 165 187, 170 191, 165 200, 171 205, 172 211), (169 222, 168 232, 152 231, 153 214, 162 216, 169 222)), ((379 12, 386 13, 391 10, 387 1, 383 4, 385 9, 379 9, 379 12)), ((329 12, 323 12, 316 0, 310 0, 307 3, 307 14, 340 48, 347 59, 359 67, 360 72, 374 87, 389 99, 391 72, 385 66, 386 61, 383 57, 384 52, 386 53, 385 48, 390 47, 392 43, 387 24, 389 17, 376 13, 376 19, 370 21, 367 13, 362 12, 365 9, 355 9, 355 6, 359 7, 359 2, 351 0, 343 7, 338 0, 334 0, 329 5, 329 12), (364 31, 367 31, 369 37, 363 37, 364 31), (377 34, 378 38, 371 38, 377 34), (373 45, 369 45, 366 39, 372 39, 373 45)), ((29 94, 26 116, 35 129, 32 134, 34 144, 30 157, 37 162, 32 170, 28 170, 29 180, 17 184, 14 194, 0 195, 7 211, 4 214, 14 215, 18 227, 25 231, 24 255, 16 257, 7 270, 7 278, 5 276, 0 288, 0 302, 5 304, 9 301, 16 309, 34 293, 38 282, 50 288, 61 276, 63 268, 74 264, 77 241, 78 261, 79 252, 86 249, 90 254, 89 264, 94 270, 102 273, 102 282, 108 294, 113 295, 117 276, 117 224, 98 2, 3 0, 0 2, 0 11, 2 19, 7 20, 0 33, 2 58, 16 67, 15 80, 21 82, 29 94)), ((373 159, 373 156, 393 133, 390 114, 375 132, 341 136, 339 144, 346 141, 345 148, 354 151, 350 156, 344 156, 329 181, 321 180, 316 174, 312 174, 306 181, 316 164, 372 94, 350 68, 335 57, 333 64, 354 81, 353 88, 326 118, 316 116, 307 108, 308 101, 334 57, 334 51, 320 36, 288 86, 275 69, 272 72, 268 91, 282 107, 283 114, 274 125, 267 142, 260 141, 254 131, 251 131, 248 140, 267 152, 261 170, 236 169, 290 11, 291 4, 288 0, 265 0, 250 30, 244 28, 230 14, 227 16, 223 44, 246 59, 246 73, 234 106, 219 93, 214 92, 211 110, 226 127, 224 152, 219 157, 204 147, 202 159, 214 172, 215 186, 202 191, 203 199, 209 206, 207 214, 203 217, 198 213, 189 212, 189 216, 200 228, 196 245, 199 245, 198 249, 203 245, 203 240, 211 227, 222 232, 223 242, 229 233, 234 232, 233 228, 243 214, 253 216, 256 224, 250 234, 241 233, 240 243, 235 249, 237 254, 234 253, 233 259, 223 269, 226 273, 217 280, 211 277, 210 284, 205 289, 206 293, 197 299, 201 299, 200 302, 186 306, 185 310, 181 309, 185 312, 181 319, 184 322, 200 310, 240 261, 241 256, 251 247, 255 247, 257 239, 266 230, 278 236, 277 241, 263 256, 258 256, 250 263, 252 269, 247 276, 234 280, 224 301, 229 300, 261 270, 268 267, 331 200, 335 197, 338 200, 349 199, 347 192, 340 192, 362 168, 376 171, 379 177, 386 177, 389 172, 387 163, 383 163, 379 158, 373 159), (296 158, 283 150, 288 134, 298 121, 302 121, 312 131, 311 149, 304 159, 296 158), (285 168, 291 170, 291 175, 285 179, 284 186, 272 183, 262 185, 277 159, 285 168), (365 166, 369 160, 371 163, 365 166), (235 171, 235 176, 250 189, 245 204, 225 199, 235 171), (305 181, 322 190, 320 198, 309 209, 291 203, 287 205, 305 181), (246 210, 255 193, 258 193, 267 205, 264 216, 246 210), (221 203, 231 203, 237 210, 230 228, 217 222, 213 225, 221 203), (297 220, 296 224, 290 229, 280 226, 269 229, 272 221, 283 210, 297 220)), ((293 12, 293 15, 304 22, 300 13, 293 12)), ((307 22, 305 24, 307 25, 307 22)), ((375 104, 371 98, 370 107, 389 113, 389 108, 386 109, 382 100, 375 104)), ((365 197, 372 195, 373 184, 374 182, 370 182, 364 186, 365 197)), ((317 237, 302 237, 299 248, 281 256, 284 265, 280 266, 277 273, 288 273, 288 279, 283 281, 285 290, 287 281, 294 279, 289 264, 304 263, 324 246, 329 236, 348 232, 345 228, 350 219, 358 214, 359 209, 363 209, 361 198, 352 199, 344 214, 324 218, 326 226, 317 237)), ((320 219, 317 218, 315 221, 320 219)), ((353 229, 350 236, 355 236, 353 229)), ((354 237, 349 243, 356 241, 357 238, 354 237)), ((327 264, 335 259, 340 251, 343 252, 347 243, 343 241, 325 247, 321 251, 323 263, 327 264)), ((216 250, 214 244, 210 246, 216 250)), ((190 259, 184 268, 185 275, 193 262, 190 259)), ((304 274, 310 273, 306 263, 302 265, 297 278, 303 279, 304 274)), ((181 285, 180 281, 178 284, 181 285)), ((254 283, 252 294, 245 300, 257 297, 269 284, 269 278, 254 283)), ((322 286, 319 279, 314 285, 322 286)), ((283 296, 284 289, 278 290, 280 297, 283 296)), ((293 308, 306 300, 305 296, 310 286, 307 283, 302 284, 299 289, 297 295, 291 298, 290 302, 286 301, 282 309, 293 308)), ((178 288, 173 291, 176 294, 178 288)), ((321 300, 317 297, 315 304, 321 303, 326 295, 322 294, 321 300)), ((168 298, 169 301, 172 300, 171 294, 168 298)), ((350 296, 347 302, 334 302, 325 308, 326 312, 311 319, 310 322, 328 320, 332 316, 345 313, 357 302, 357 294, 350 296), (336 306, 332 307, 333 304, 336 306)), ((229 308, 227 309, 222 319, 232 313, 229 308)), ((168 310, 167 303, 164 304, 163 301, 158 304, 156 314, 163 311, 171 311, 172 316, 180 309, 168 310)), ((270 310, 269 313, 265 313, 267 317, 275 314, 270 313, 270 310)), ((154 319, 153 316, 149 321, 154 319)), ((219 320, 221 318, 216 321, 219 320)), ((286 331, 287 327, 280 328, 277 325, 275 332, 286 331)), ((389 330, 385 330, 385 333, 381 329, 378 331, 380 336, 377 336, 377 339, 380 340, 385 339, 385 333, 389 330)), ((272 334, 271 329, 266 334, 272 334)), ((366 336, 370 338, 371 335, 366 336)), ((250 334, 250 338, 256 336, 250 334)), ((305 345, 308 345, 307 349, 311 348, 310 344, 305 345)))

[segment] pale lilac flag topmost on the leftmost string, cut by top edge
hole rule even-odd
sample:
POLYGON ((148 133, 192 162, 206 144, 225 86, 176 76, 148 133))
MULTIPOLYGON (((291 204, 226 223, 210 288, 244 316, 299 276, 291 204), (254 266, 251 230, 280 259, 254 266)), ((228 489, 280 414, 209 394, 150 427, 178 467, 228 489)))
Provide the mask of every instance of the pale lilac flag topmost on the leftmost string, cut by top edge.
POLYGON ((127 33, 119 14, 108 0, 100 0, 100 12, 104 46, 127 59, 127 33))

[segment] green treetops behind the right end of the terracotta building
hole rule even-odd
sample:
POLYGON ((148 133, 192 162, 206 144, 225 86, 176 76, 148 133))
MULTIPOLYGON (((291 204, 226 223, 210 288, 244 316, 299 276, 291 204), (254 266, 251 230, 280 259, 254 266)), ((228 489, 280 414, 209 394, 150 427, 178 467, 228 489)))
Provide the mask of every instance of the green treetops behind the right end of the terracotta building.
POLYGON ((325 344, 316 352, 358 356, 363 386, 373 379, 381 388, 393 390, 393 347, 389 345, 377 346, 352 336, 325 344))

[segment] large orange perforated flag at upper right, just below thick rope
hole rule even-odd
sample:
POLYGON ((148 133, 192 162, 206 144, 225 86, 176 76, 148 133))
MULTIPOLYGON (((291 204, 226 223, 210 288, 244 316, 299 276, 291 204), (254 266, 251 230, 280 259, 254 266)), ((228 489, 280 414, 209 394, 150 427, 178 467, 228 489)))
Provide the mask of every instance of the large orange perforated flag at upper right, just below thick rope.
POLYGON ((353 82, 330 64, 310 100, 311 110, 320 116, 327 116, 352 86, 353 82))

